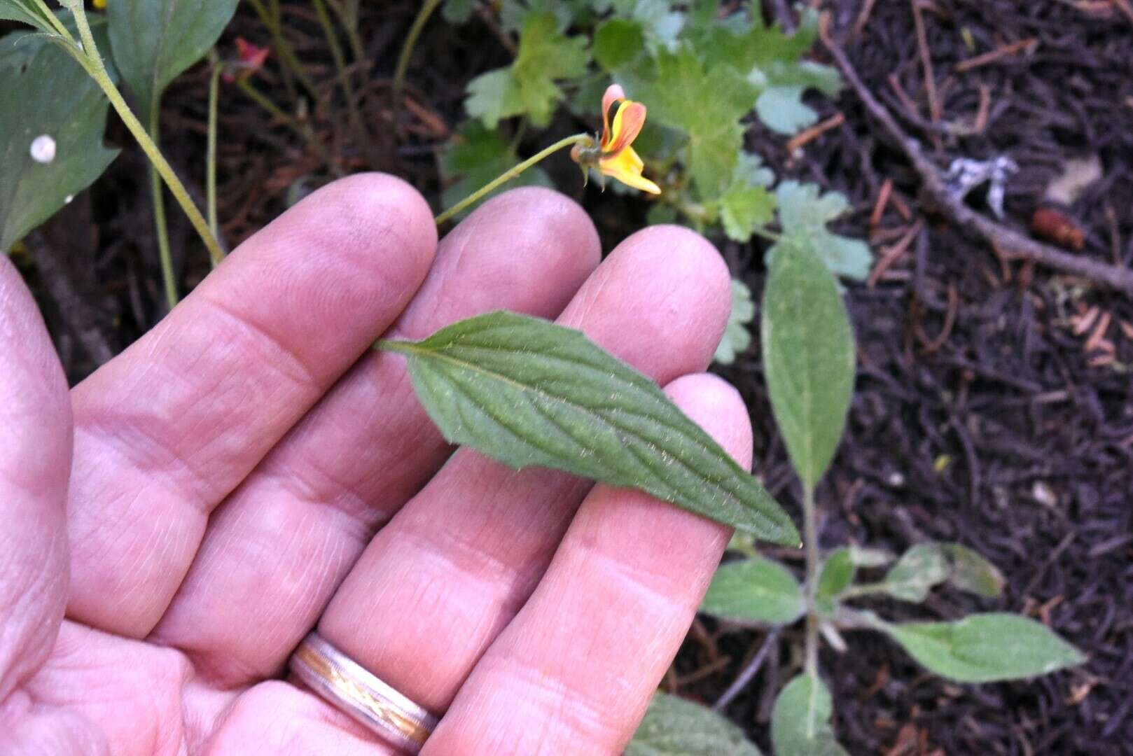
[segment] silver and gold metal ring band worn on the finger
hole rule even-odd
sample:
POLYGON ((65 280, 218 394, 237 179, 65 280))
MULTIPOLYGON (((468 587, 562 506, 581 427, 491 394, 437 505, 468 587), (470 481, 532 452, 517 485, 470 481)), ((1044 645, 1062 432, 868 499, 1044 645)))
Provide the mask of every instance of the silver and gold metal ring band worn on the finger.
POLYGON ((291 654, 291 671, 312 690, 406 753, 417 754, 437 719, 382 682, 317 632, 291 654))

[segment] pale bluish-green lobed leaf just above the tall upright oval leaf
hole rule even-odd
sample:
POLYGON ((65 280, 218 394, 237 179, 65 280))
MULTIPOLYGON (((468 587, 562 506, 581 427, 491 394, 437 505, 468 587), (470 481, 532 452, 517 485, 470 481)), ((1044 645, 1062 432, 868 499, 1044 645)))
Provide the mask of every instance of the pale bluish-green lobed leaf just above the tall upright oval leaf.
POLYGON ((809 244, 835 275, 864 281, 874 255, 858 239, 847 239, 827 230, 826 224, 850 207, 846 198, 829 192, 819 196, 815 184, 783 181, 775 189, 778 197, 780 222, 783 236, 809 244))

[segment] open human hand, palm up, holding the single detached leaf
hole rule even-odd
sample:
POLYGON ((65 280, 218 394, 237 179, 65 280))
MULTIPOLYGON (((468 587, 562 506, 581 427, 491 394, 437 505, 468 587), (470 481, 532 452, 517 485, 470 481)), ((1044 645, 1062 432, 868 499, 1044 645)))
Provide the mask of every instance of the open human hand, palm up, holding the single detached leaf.
POLYGON ((0 754, 395 753, 284 680, 316 627, 444 714, 424 754, 619 753, 730 532, 453 453, 404 362, 367 349, 491 309, 557 316, 747 466, 742 401, 697 374, 729 314, 719 255, 657 227, 598 258, 552 192, 437 245, 416 192, 352 177, 69 398, 0 263, 0 754))

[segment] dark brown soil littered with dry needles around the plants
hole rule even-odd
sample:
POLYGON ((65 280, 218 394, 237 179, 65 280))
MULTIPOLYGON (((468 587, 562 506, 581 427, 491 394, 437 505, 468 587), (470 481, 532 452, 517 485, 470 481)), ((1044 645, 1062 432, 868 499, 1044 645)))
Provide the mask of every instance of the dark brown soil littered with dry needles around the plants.
MULTIPOLYGON (((770 2, 766 10, 782 18, 786 5, 770 2)), ((1133 11, 1122 11, 1126 0, 921 0, 935 105, 910 2, 819 5, 832 11, 835 35, 868 87, 942 169, 961 156, 1010 155, 1019 163, 1005 223, 1025 228, 1063 162, 1097 155, 1101 179, 1062 210, 1084 231, 1079 254, 1133 262, 1133 11), (978 54, 1031 39, 1014 53, 957 70, 978 54)), ((219 196, 228 246, 282 212, 289 194, 355 170, 391 171, 437 197, 437 148, 461 119, 465 84, 510 56, 484 19, 458 28, 433 22, 410 73, 416 107, 395 128, 389 79, 416 6, 391 0, 365 10, 369 62, 357 80, 366 83, 361 107, 372 128, 363 139, 346 117, 309 6, 286 3, 292 42, 321 83, 309 122, 330 160, 227 88, 219 196)), ((225 35, 229 49, 237 35, 269 42, 246 8, 225 35)), ((255 84, 286 99, 274 66, 255 84)), ((206 85, 207 73, 194 69, 170 90, 163 111, 171 161, 196 187, 203 186, 206 85)), ((919 178, 852 92, 812 104, 824 118, 842 113, 845 121, 793 154, 785 139, 753 126, 751 148, 780 177, 845 193, 854 211, 841 230, 870 237, 879 256, 906 233, 909 241, 874 284, 849 287, 858 390, 846 440, 819 492, 824 545, 853 542, 900 553, 926 540, 964 543, 1004 571, 1002 600, 944 592, 921 608, 875 608, 897 619, 1019 611, 1090 656, 1079 670, 1034 681, 960 686, 926 674, 884 638, 852 632, 847 653, 826 649, 821 659, 840 739, 851 754, 894 756, 1133 753, 1133 304, 972 241, 919 201, 919 178), (875 226, 870 215, 886 180, 893 194, 875 226)), ((566 134, 578 126, 564 120, 555 128, 566 134)), ((129 144, 120 125, 111 135, 129 144)), ((73 381, 163 314, 143 177, 139 153, 127 150, 100 190, 84 193, 34 233, 29 254, 17 261, 73 381)), ((574 186, 569 179, 561 185, 574 186)), ((644 218, 639 204, 612 202, 610 194, 602 204, 593 194, 577 196, 595 213, 607 246, 644 218)), ((972 202, 987 211, 978 195, 972 202)), ((180 214, 171 212, 170 221, 189 287, 207 273, 207 262, 180 214)), ((763 246, 721 246, 758 292, 763 246)), ((756 473, 781 501, 795 501, 758 343, 722 373, 749 401, 756 473)), ((796 554, 780 555, 799 563, 796 554)), ((698 622, 665 685, 715 702, 761 642, 760 632, 698 622)), ((798 642, 785 635, 726 707, 768 751, 773 695, 796 672, 798 642)))

